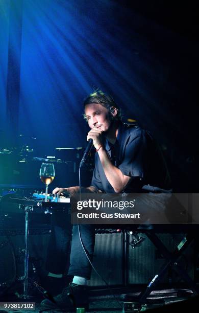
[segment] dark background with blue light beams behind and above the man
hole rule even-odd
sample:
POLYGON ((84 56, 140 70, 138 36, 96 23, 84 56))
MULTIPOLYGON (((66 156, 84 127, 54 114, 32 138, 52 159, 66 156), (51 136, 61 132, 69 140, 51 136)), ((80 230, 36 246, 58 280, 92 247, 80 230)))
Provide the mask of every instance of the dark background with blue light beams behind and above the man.
MULTIPOLYGON (((173 191, 198 192, 197 20, 192 1, 1 0, 0 183, 39 184, 33 157, 85 147, 82 102, 99 87, 153 133, 173 191)), ((77 183, 73 165, 55 166, 55 186, 77 183)))

